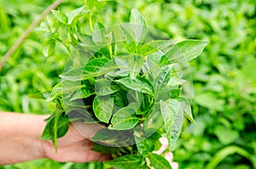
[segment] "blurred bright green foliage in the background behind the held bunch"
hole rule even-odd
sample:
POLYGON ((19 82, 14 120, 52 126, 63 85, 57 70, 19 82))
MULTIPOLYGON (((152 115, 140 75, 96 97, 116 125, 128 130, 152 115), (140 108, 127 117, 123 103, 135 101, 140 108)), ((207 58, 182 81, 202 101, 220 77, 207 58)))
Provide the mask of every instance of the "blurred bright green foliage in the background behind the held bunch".
MULTIPOLYGON (((0 0, 0 60, 50 3, 53 1, 0 0)), ((83 4, 64 1, 59 8, 67 13, 83 4)), ((173 152, 179 168, 256 168, 256 1, 109 1, 93 18, 104 25, 127 22, 131 8, 138 8, 148 25, 174 40, 195 38, 209 42, 201 56, 190 63, 196 124, 184 122, 173 152)), ((48 14, 44 22, 52 17, 48 14)), ((81 19, 85 30, 89 29, 87 19, 86 14, 81 19)), ((60 81, 58 75, 68 56, 65 49, 44 56, 49 37, 35 29, 4 65, 0 71, 0 110, 33 114, 54 110, 54 104, 32 99, 32 95, 50 91, 60 81)), ((100 166, 38 160, 0 169, 100 166)))

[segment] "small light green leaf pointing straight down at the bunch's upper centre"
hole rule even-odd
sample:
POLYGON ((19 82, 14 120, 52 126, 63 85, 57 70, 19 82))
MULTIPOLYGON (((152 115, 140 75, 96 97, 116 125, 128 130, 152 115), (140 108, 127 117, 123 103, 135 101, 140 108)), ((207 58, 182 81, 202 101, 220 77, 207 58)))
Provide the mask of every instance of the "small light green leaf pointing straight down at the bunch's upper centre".
POLYGON ((144 63, 144 58, 138 54, 131 54, 128 60, 128 68, 130 71, 130 77, 132 80, 136 79, 137 75, 140 73, 144 63))

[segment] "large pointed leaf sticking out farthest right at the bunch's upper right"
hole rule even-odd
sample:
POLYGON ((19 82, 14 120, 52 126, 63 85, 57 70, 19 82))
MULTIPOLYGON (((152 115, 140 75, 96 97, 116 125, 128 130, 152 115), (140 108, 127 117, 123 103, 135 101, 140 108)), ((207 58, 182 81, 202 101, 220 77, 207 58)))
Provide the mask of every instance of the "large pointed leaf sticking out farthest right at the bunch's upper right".
POLYGON ((201 54, 206 45, 206 41, 199 40, 177 42, 177 44, 166 53, 166 57, 161 60, 161 63, 169 64, 170 61, 190 61, 201 54))

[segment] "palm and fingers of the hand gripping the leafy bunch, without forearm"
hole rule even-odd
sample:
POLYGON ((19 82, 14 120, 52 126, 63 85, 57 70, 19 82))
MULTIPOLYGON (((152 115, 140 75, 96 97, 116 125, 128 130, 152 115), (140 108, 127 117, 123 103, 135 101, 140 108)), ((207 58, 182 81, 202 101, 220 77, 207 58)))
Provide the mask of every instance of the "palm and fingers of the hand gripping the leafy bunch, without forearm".
POLYGON ((70 124, 67 134, 57 139, 58 149, 51 141, 42 141, 44 157, 61 162, 89 162, 108 161, 109 155, 93 151, 93 142, 90 138, 102 129, 99 124, 84 124, 75 121, 70 124))

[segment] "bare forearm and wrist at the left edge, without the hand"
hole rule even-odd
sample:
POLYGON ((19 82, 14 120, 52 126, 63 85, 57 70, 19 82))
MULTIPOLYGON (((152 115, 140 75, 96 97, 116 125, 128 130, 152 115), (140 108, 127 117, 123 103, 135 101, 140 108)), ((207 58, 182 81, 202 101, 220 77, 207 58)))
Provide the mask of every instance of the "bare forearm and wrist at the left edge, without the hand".
POLYGON ((40 136, 47 116, 5 112, 0 114, 0 165, 44 158, 40 136))

